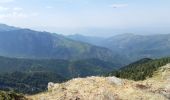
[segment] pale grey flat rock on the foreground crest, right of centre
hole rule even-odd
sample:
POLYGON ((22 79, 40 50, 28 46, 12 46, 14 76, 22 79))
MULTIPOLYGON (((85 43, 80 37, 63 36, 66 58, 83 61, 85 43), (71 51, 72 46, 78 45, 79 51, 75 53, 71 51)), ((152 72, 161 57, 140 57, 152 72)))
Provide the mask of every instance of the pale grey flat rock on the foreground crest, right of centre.
POLYGON ((123 83, 121 79, 119 79, 115 76, 107 77, 106 79, 108 80, 108 82, 110 84, 122 85, 122 83, 123 83))

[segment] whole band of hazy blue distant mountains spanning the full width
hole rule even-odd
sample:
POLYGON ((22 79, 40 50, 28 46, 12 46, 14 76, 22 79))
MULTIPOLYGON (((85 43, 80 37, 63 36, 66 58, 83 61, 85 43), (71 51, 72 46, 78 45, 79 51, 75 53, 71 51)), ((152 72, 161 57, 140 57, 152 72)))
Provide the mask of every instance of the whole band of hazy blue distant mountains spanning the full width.
POLYGON ((122 66, 141 58, 170 56, 170 34, 120 34, 110 38, 55 33, 0 24, 0 56, 79 60, 95 58, 122 66))

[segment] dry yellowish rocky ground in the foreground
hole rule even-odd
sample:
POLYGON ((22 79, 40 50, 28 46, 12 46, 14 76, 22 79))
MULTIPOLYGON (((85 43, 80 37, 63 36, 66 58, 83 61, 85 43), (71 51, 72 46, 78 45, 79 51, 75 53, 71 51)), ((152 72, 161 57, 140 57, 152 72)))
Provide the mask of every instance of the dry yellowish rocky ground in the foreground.
POLYGON ((48 84, 48 91, 28 96, 30 100, 170 100, 170 64, 152 78, 131 81, 116 77, 76 78, 48 84))

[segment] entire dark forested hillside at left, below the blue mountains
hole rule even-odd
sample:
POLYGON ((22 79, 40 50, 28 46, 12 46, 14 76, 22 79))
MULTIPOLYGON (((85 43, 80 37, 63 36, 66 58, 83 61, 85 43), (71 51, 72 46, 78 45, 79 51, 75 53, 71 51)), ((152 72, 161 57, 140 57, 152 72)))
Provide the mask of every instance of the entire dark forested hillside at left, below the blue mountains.
POLYGON ((46 90, 48 82, 101 75, 116 69, 112 62, 98 59, 77 61, 0 57, 0 89, 33 94, 46 90))

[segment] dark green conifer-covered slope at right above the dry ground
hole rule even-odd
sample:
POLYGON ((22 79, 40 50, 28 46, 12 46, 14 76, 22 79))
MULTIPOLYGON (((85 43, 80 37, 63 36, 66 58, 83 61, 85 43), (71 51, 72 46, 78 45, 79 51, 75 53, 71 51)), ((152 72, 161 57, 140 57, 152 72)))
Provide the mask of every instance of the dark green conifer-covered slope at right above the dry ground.
POLYGON ((116 76, 135 81, 145 80, 147 77, 152 77, 154 71, 167 63, 170 63, 170 57, 155 60, 145 58, 129 64, 118 71, 113 71, 107 74, 107 76, 116 76))

